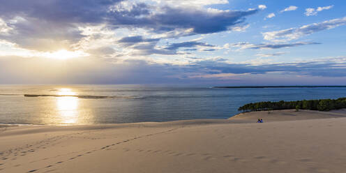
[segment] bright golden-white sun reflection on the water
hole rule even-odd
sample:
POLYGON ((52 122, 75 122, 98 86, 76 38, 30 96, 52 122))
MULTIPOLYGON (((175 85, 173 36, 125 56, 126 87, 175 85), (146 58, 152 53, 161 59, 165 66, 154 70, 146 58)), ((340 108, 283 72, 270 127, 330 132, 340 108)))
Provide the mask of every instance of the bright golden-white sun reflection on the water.
POLYGON ((57 97, 57 110, 62 119, 62 124, 77 123, 78 119, 78 98, 73 97, 76 93, 71 89, 59 89, 57 97))

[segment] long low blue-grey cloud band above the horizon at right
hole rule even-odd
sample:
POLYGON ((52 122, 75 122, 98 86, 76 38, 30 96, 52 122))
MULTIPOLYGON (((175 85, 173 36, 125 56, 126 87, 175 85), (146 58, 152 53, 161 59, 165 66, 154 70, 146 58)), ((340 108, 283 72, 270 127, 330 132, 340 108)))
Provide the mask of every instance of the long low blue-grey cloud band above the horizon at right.
POLYGON ((227 63, 223 61, 198 61, 196 67, 208 69, 209 74, 267 74, 282 73, 318 77, 346 77, 346 57, 313 59, 291 63, 227 63))

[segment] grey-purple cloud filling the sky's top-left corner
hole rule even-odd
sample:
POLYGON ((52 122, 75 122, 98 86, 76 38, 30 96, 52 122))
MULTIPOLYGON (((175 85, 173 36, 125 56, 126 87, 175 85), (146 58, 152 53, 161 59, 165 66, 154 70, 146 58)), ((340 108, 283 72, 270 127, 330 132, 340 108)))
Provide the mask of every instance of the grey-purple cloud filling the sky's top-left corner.
POLYGON ((122 0, 34 0, 1 1, 0 16, 25 16, 58 23, 98 23, 109 6, 122 0))

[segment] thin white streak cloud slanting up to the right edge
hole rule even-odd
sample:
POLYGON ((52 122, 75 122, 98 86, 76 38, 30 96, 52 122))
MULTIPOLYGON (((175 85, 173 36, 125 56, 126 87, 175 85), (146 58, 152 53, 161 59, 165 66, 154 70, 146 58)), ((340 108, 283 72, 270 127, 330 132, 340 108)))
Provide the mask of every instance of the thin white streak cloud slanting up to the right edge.
POLYGON ((280 31, 271 31, 262 33, 264 40, 271 41, 287 41, 295 40, 303 36, 308 36, 312 33, 323 31, 326 29, 333 29, 346 24, 346 17, 334 20, 327 20, 315 24, 307 24, 299 28, 283 29, 280 31))

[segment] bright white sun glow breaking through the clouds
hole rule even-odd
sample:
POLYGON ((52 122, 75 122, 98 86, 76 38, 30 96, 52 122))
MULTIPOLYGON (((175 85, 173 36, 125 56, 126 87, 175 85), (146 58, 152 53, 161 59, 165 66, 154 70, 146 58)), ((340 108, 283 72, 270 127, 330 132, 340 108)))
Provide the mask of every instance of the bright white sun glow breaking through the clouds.
POLYGON ((68 50, 58 50, 56 52, 45 52, 43 54, 44 57, 48 57, 51 59, 72 59, 76 57, 85 57, 89 54, 82 52, 80 50, 77 51, 68 51, 68 50))

